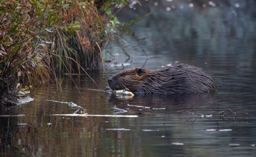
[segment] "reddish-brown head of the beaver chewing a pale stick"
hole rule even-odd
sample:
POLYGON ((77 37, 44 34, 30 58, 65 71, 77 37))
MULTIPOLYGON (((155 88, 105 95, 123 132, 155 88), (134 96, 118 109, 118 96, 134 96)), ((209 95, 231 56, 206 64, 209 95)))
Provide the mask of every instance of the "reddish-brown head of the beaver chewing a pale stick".
POLYGON ((113 77, 109 78, 109 87, 112 90, 124 90, 124 88, 128 88, 130 91, 136 91, 140 88, 141 80, 150 71, 150 69, 140 67, 120 71, 120 73, 116 73, 113 77))

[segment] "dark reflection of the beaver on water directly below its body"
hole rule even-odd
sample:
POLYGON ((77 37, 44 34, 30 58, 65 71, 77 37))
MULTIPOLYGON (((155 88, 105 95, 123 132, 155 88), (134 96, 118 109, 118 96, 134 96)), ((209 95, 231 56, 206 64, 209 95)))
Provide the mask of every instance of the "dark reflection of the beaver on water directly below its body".
MULTIPOLYGON (((215 94, 140 94, 132 99, 127 97, 109 97, 109 105, 118 109, 133 111, 163 110, 181 111, 200 109, 200 111, 213 111, 216 106, 215 94), (203 109, 202 109, 203 107, 203 109)), ((217 107, 217 106, 216 106, 217 107)), ((161 113, 161 112, 159 112, 161 113)))

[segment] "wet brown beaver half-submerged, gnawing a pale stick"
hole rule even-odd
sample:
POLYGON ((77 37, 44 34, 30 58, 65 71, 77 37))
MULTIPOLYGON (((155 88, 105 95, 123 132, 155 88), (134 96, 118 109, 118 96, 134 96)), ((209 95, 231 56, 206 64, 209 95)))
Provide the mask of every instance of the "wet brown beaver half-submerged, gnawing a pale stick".
POLYGON ((109 78, 111 90, 134 94, 183 94, 216 92, 214 80, 198 67, 174 64, 162 69, 126 69, 109 78))

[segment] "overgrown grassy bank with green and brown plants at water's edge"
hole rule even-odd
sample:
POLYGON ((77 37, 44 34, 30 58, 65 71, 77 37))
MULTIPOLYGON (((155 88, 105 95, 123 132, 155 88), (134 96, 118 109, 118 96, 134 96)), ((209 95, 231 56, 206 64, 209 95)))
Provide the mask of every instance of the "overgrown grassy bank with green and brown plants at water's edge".
POLYGON ((57 73, 97 69, 103 63, 101 46, 124 27, 115 6, 128 2, 1 1, 0 103, 13 104, 18 91, 57 73))

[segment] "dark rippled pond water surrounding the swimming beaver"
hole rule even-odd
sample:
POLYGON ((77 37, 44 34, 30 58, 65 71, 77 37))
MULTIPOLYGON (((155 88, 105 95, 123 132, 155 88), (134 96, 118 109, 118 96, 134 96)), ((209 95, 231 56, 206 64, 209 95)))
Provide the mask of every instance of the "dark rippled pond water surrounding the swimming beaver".
POLYGON ((121 21, 152 12, 132 26, 145 40, 119 41, 130 60, 113 43, 109 50, 115 60, 109 54, 107 60, 116 63, 91 74, 97 86, 86 76, 64 77, 61 89, 46 82, 31 94, 34 101, 1 107, 0 155, 256 156, 255 6, 255 1, 173 0, 143 1, 136 10, 122 10, 121 21), (217 94, 116 97, 88 90, 104 89, 122 69, 158 69, 176 61, 212 75, 217 94), (127 112, 115 113, 114 107, 127 112), (138 117, 52 115, 78 109, 138 117))

